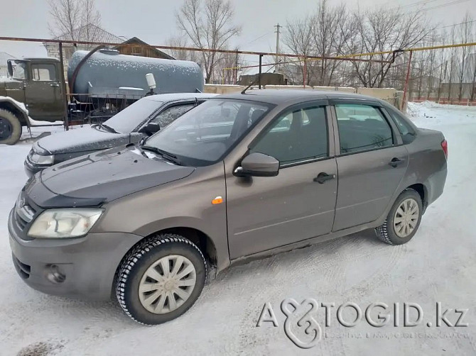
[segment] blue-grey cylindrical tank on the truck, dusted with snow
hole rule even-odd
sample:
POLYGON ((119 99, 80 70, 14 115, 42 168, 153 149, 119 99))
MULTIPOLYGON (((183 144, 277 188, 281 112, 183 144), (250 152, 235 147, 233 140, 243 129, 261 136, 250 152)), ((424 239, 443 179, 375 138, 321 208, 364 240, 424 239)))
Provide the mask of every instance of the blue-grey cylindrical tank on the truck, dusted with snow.
MULTIPOLYGON (((68 69, 68 82, 77 65, 89 52, 73 53, 68 69)), ((139 99, 150 91, 146 74, 156 79, 156 94, 193 93, 203 91, 205 80, 202 69, 195 62, 164 60, 161 58, 120 55, 116 50, 99 50, 82 64, 72 87, 78 101, 87 96, 98 99, 121 96, 124 99, 139 99), (87 95, 84 95, 87 94, 87 95)))

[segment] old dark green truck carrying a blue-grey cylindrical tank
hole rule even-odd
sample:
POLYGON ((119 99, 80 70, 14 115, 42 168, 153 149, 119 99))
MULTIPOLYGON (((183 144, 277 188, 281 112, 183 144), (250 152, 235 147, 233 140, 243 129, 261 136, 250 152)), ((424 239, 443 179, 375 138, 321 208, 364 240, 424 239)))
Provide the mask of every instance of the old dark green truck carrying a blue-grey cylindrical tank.
POLYGON ((105 121, 146 94, 202 92, 204 86, 195 62, 107 49, 76 51, 67 69, 68 86, 55 58, 9 60, 8 72, 0 78, 0 144, 6 145, 17 143, 22 128, 36 121, 105 121), (149 73, 157 86, 146 79, 149 73))

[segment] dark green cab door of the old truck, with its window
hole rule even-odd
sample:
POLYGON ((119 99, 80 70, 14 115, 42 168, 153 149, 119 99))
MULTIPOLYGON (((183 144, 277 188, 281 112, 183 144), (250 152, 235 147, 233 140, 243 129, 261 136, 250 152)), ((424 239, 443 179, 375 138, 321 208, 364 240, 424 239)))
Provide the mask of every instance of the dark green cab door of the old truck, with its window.
POLYGON ((32 63, 25 87, 30 116, 36 120, 62 120, 65 102, 55 63, 32 63))

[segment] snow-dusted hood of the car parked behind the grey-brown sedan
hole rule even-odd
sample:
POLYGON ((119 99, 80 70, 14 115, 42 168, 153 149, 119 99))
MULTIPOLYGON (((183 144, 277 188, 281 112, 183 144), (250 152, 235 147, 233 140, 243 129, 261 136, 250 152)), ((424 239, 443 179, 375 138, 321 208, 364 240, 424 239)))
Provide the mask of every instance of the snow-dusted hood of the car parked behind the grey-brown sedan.
POLYGON ((126 143, 129 143, 129 133, 110 133, 96 130, 92 126, 85 126, 40 138, 36 145, 40 148, 39 151, 47 151, 50 155, 55 155, 102 150, 126 143))

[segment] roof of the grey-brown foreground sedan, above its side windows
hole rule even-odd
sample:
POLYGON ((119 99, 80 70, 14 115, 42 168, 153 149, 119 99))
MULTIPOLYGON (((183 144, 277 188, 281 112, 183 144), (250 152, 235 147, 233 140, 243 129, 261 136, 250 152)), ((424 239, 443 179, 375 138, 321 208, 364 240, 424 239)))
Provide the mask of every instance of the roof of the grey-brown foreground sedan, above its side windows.
POLYGON ((372 96, 345 93, 344 91, 317 91, 305 89, 253 89, 247 90, 245 94, 234 93, 220 95, 220 99, 241 99, 261 101, 269 104, 283 104, 286 101, 303 99, 303 101, 319 100, 319 99, 359 99, 367 101, 381 100, 372 96))

